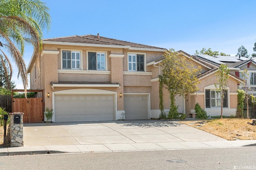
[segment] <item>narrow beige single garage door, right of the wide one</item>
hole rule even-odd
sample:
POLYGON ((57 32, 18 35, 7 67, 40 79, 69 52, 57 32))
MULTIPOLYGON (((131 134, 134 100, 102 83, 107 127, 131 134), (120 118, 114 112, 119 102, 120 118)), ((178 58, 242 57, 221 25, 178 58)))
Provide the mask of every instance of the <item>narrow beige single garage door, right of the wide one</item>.
POLYGON ((148 95, 124 95, 125 120, 148 119, 148 95))

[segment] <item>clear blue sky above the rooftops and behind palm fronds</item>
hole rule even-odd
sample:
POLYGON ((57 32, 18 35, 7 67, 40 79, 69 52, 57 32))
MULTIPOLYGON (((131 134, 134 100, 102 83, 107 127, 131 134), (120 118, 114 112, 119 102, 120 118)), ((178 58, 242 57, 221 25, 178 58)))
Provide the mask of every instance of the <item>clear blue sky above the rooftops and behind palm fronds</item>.
MULTIPOLYGON (((183 50, 203 47, 236 55, 249 54, 256 42, 256 0, 42 0, 52 25, 44 38, 92 34, 183 50)), ((26 46, 24 60, 33 49, 26 46)), ((13 65, 14 70, 15 66, 13 65)), ((17 74, 12 79, 23 89, 17 74)))

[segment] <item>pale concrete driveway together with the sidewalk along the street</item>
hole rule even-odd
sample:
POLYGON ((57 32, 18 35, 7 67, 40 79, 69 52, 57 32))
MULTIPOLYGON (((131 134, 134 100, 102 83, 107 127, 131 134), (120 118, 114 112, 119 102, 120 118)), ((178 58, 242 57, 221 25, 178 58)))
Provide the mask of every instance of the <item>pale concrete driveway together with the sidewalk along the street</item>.
POLYGON ((0 156, 256 146, 226 140, 171 121, 136 120, 24 124, 24 146, 0 148, 0 156))

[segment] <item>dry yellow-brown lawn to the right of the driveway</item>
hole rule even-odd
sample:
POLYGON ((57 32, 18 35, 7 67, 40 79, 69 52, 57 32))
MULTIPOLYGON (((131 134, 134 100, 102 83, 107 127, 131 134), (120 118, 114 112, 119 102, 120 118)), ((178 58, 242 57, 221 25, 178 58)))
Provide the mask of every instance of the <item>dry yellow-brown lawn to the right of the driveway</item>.
POLYGON ((180 121, 180 123, 195 127, 227 140, 256 139, 256 125, 251 119, 212 119, 196 121, 180 121))

